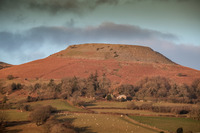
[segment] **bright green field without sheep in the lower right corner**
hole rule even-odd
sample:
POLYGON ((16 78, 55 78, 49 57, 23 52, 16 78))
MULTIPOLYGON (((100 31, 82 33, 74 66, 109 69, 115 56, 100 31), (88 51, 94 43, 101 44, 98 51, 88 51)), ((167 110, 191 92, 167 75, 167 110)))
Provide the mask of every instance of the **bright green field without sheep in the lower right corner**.
POLYGON ((147 116, 130 116, 130 118, 159 129, 175 132, 177 128, 182 127, 184 132, 200 132, 200 121, 189 118, 175 117, 147 117, 147 116))

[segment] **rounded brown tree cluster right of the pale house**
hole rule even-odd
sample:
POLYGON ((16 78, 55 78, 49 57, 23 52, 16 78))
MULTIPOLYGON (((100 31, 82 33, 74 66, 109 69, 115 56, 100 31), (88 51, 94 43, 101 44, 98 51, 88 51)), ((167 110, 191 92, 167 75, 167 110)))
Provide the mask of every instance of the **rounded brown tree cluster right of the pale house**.
POLYGON ((121 85, 115 91, 135 99, 197 103, 200 102, 200 79, 196 79, 189 86, 187 84, 177 85, 164 77, 147 77, 135 86, 121 85))

